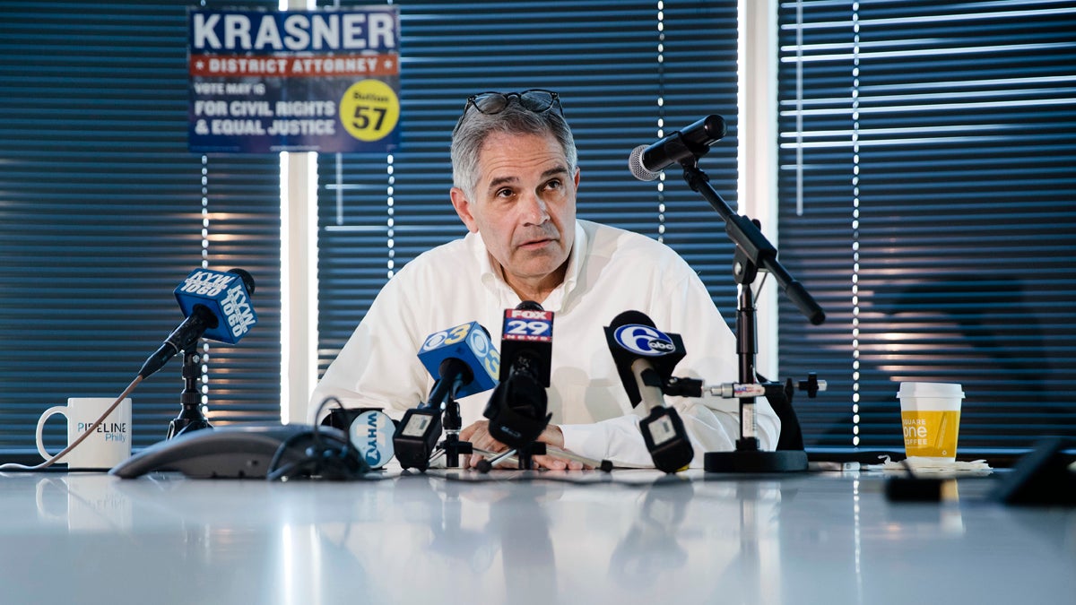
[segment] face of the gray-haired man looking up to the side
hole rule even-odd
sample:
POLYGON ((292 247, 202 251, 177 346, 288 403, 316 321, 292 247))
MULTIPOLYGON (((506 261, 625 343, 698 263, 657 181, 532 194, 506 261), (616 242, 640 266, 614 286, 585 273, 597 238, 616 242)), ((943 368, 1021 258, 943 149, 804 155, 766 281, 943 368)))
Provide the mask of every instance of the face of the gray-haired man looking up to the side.
POLYGON ((548 294, 564 280, 576 236, 579 171, 569 172, 551 135, 491 135, 479 154, 475 199, 453 187, 452 205, 482 235, 494 266, 521 293, 548 294))

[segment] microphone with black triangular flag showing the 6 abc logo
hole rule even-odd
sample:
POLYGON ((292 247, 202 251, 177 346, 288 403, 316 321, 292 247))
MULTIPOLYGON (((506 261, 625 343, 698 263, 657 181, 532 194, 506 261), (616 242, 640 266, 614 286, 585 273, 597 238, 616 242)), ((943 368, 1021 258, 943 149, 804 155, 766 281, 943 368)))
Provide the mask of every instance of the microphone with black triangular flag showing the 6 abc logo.
POLYGON ((683 340, 678 334, 665 334, 639 311, 624 311, 605 328, 632 407, 643 402, 647 418, 639 421, 654 466, 665 473, 683 470, 695 450, 688 439, 683 421, 676 408, 665 405, 663 386, 672 377, 672 368, 683 358, 683 340))

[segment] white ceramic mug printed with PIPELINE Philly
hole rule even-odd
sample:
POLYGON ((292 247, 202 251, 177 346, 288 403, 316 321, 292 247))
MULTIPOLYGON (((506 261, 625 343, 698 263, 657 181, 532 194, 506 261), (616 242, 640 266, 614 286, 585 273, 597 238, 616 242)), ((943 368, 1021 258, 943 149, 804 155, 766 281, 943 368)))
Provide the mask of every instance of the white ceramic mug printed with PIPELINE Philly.
MULTIPOLYGON (((38 452, 48 460, 55 454, 45 450, 42 434, 45 421, 53 414, 62 413, 68 419, 68 445, 73 444, 87 428, 101 418, 104 410, 115 399, 108 397, 70 397, 68 405, 45 410, 38 420, 38 452)), ((112 413, 94 430, 93 434, 63 454, 56 464, 67 464, 68 468, 108 469, 131 455, 131 400, 124 399, 112 413)))

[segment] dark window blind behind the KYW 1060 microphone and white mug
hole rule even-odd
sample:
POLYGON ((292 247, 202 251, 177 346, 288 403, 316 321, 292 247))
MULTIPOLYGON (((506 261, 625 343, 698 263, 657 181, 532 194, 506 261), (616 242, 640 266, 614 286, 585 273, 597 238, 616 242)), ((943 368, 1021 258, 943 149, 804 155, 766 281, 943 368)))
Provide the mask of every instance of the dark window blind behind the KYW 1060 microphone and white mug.
MULTIPOLYGON (((218 425, 280 418, 280 160, 187 151, 186 10, 0 4, 6 459, 37 458, 46 408, 123 391, 182 321, 172 290, 203 259, 254 276, 259 316, 242 342, 209 347, 207 414, 218 425)), ((181 361, 133 392, 136 448, 162 439, 179 413, 181 361)), ((51 451, 66 440, 63 422, 49 421, 51 451)))

